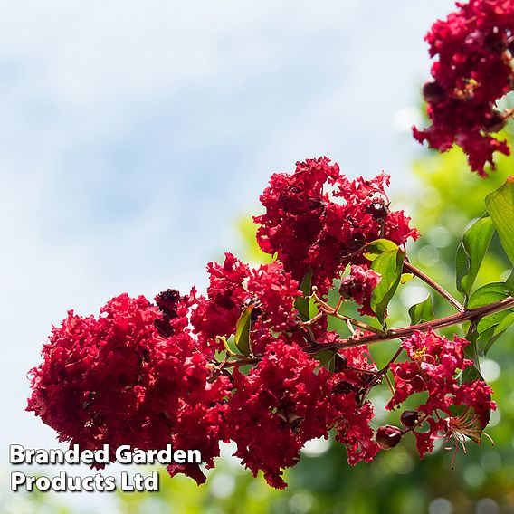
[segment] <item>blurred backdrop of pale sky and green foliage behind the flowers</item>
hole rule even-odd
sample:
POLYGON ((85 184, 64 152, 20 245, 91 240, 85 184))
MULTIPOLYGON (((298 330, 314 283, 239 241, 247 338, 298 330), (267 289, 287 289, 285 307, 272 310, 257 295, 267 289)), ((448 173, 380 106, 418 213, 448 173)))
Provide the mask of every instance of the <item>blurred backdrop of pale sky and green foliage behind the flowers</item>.
MULTIPOLYGON (((202 289, 205 263, 226 250, 258 262, 248 219, 271 172, 320 155, 348 176, 386 170, 395 208, 424 234, 414 262, 452 290, 462 230, 513 159, 483 181, 458 151, 439 156, 410 136, 423 122, 423 35, 452 10, 449 0, 0 0, 0 8, 0 512, 514 512, 509 334, 482 363, 500 404, 488 431, 496 446, 470 444, 454 471, 450 452, 419 462, 412 442, 349 468, 341 448, 321 441, 281 492, 252 479, 226 447, 201 488, 163 472, 159 494, 11 493, 9 444, 59 446, 24 412, 25 375, 52 323, 67 309, 97 312, 121 291, 202 289)), ((481 280, 504 278, 507 267, 493 243, 481 280)), ((427 293, 413 282, 392 307, 397 323, 427 293)), ((374 401, 380 411, 386 392, 374 401)))

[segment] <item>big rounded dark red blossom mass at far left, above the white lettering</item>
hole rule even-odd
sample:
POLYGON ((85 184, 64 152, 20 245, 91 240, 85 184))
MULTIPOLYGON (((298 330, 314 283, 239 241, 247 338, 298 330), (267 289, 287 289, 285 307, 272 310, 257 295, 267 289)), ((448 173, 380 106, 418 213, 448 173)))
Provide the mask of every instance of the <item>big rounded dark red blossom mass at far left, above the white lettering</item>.
MULTIPOLYGON (((173 337, 155 323, 157 307, 144 297, 122 294, 100 309, 100 317, 69 311, 52 328, 43 363, 31 370, 33 393, 27 410, 81 450, 109 444, 142 450, 180 443, 198 449, 208 466, 226 438, 221 413, 226 377, 207 382, 205 357, 177 307, 168 319, 173 337)), ((197 465, 183 470, 199 480, 197 465)))

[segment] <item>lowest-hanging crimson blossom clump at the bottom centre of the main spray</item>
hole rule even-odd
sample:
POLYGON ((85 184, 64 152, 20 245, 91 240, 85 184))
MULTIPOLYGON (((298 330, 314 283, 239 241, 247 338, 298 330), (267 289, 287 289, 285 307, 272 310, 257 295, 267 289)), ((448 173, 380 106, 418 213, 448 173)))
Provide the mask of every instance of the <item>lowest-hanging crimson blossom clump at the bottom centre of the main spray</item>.
POLYGON ((299 461, 304 443, 327 437, 337 419, 328 371, 314 373, 316 366, 300 347, 276 341, 248 376, 233 374, 227 420, 235 455, 277 489, 286 486, 282 470, 299 461))

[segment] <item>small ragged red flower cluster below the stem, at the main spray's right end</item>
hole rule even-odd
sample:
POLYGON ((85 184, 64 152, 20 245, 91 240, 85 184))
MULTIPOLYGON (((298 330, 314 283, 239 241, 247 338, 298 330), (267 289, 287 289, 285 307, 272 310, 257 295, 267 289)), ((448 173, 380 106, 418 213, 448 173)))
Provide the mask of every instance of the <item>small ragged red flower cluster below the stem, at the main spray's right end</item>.
POLYGON ((427 400, 418 407, 419 427, 417 421, 412 427, 422 458, 433 451, 433 441, 440 436, 461 434, 480 440, 490 410, 496 408, 490 399, 490 386, 481 380, 460 384, 457 379, 459 371, 473 364, 464 357, 468 344, 467 339, 454 337, 450 341, 440 337, 432 329, 414 332, 403 342, 411 360, 391 365, 395 395, 386 408, 393 409, 414 393, 428 393, 427 400), (454 405, 462 405, 460 414, 452 412, 454 405), (423 430, 423 422, 428 424, 428 431, 423 430))

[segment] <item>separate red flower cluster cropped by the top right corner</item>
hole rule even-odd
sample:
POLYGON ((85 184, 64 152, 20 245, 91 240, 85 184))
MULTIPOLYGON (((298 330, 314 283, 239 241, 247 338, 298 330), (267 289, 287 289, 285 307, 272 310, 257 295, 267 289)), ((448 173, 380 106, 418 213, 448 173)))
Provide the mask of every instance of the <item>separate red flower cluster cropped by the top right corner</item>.
POLYGON ((414 128, 414 137, 446 151, 459 145, 471 168, 486 176, 494 169, 495 151, 509 155, 506 141, 491 136, 504 127, 511 112, 495 109, 514 86, 514 1, 471 0, 433 24, 426 35, 434 81, 424 85, 432 125, 414 128))

